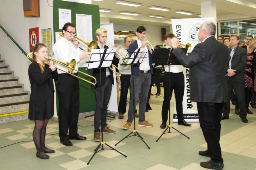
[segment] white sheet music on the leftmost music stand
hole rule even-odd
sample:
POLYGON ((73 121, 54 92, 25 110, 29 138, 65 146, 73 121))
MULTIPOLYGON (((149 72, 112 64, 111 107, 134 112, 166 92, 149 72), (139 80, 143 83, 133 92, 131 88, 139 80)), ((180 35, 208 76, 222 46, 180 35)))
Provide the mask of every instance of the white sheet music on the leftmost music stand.
MULTIPOLYGON (((104 50, 105 49, 92 49, 86 70, 99 67, 104 50)), ((102 62, 102 67, 110 67, 115 53, 116 48, 107 49, 104 61, 102 62)))

